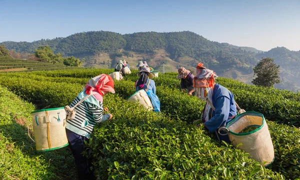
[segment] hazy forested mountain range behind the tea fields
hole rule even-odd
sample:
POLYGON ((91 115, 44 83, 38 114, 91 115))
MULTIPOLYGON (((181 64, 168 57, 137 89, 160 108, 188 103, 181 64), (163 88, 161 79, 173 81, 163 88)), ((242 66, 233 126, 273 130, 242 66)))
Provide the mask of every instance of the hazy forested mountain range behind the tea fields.
POLYGON ((17 52, 31 53, 40 45, 49 45, 55 53, 83 59, 84 66, 104 68, 114 67, 118 59, 126 59, 131 68, 135 68, 138 60, 146 60, 159 71, 162 71, 163 63, 165 71, 176 71, 180 66, 195 71, 196 64, 203 62, 219 76, 246 83, 252 80, 252 68, 256 63, 262 57, 271 57, 280 65, 282 82, 275 86, 293 91, 300 87, 300 50, 275 47, 269 51, 261 51, 253 47, 210 41, 190 31, 123 35, 109 31, 89 31, 54 39, 5 41, 1 44, 17 52))

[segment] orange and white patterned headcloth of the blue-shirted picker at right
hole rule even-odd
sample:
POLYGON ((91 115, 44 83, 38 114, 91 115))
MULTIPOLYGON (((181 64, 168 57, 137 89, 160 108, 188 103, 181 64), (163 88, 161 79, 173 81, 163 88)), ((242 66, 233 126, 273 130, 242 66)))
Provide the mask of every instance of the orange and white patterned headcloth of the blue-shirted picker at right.
POLYGON ((204 67, 202 63, 198 63, 196 68, 196 75, 192 80, 192 86, 196 88, 213 87, 214 80, 217 77, 215 72, 204 67))

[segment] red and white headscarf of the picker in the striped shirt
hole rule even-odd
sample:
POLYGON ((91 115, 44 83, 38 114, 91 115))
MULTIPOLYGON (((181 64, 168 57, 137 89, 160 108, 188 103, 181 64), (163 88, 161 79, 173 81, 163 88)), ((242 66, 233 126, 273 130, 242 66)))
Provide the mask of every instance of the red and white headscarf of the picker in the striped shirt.
POLYGON ((93 96, 103 102, 103 91, 114 93, 113 79, 107 74, 100 74, 91 79, 85 84, 83 90, 86 94, 94 92, 93 96))

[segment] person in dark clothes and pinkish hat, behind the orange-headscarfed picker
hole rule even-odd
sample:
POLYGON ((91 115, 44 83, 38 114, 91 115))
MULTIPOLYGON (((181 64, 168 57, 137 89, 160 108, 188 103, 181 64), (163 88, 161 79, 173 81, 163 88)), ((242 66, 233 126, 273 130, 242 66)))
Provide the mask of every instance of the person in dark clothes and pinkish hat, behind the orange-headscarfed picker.
POLYGON ((180 81, 180 88, 181 89, 187 89, 187 94, 188 95, 195 95, 193 86, 192 86, 192 79, 193 79, 193 74, 189 71, 186 70, 184 67, 180 67, 178 69, 178 79, 181 79, 180 81))

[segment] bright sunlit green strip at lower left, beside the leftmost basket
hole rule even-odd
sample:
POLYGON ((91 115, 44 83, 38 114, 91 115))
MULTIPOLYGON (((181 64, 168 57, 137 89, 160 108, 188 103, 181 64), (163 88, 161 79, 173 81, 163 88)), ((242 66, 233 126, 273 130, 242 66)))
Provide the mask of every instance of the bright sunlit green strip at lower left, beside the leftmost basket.
POLYGON ((26 129, 32 110, 32 104, 0 87, 1 179, 74 179, 74 160, 66 148, 36 153, 26 129))

